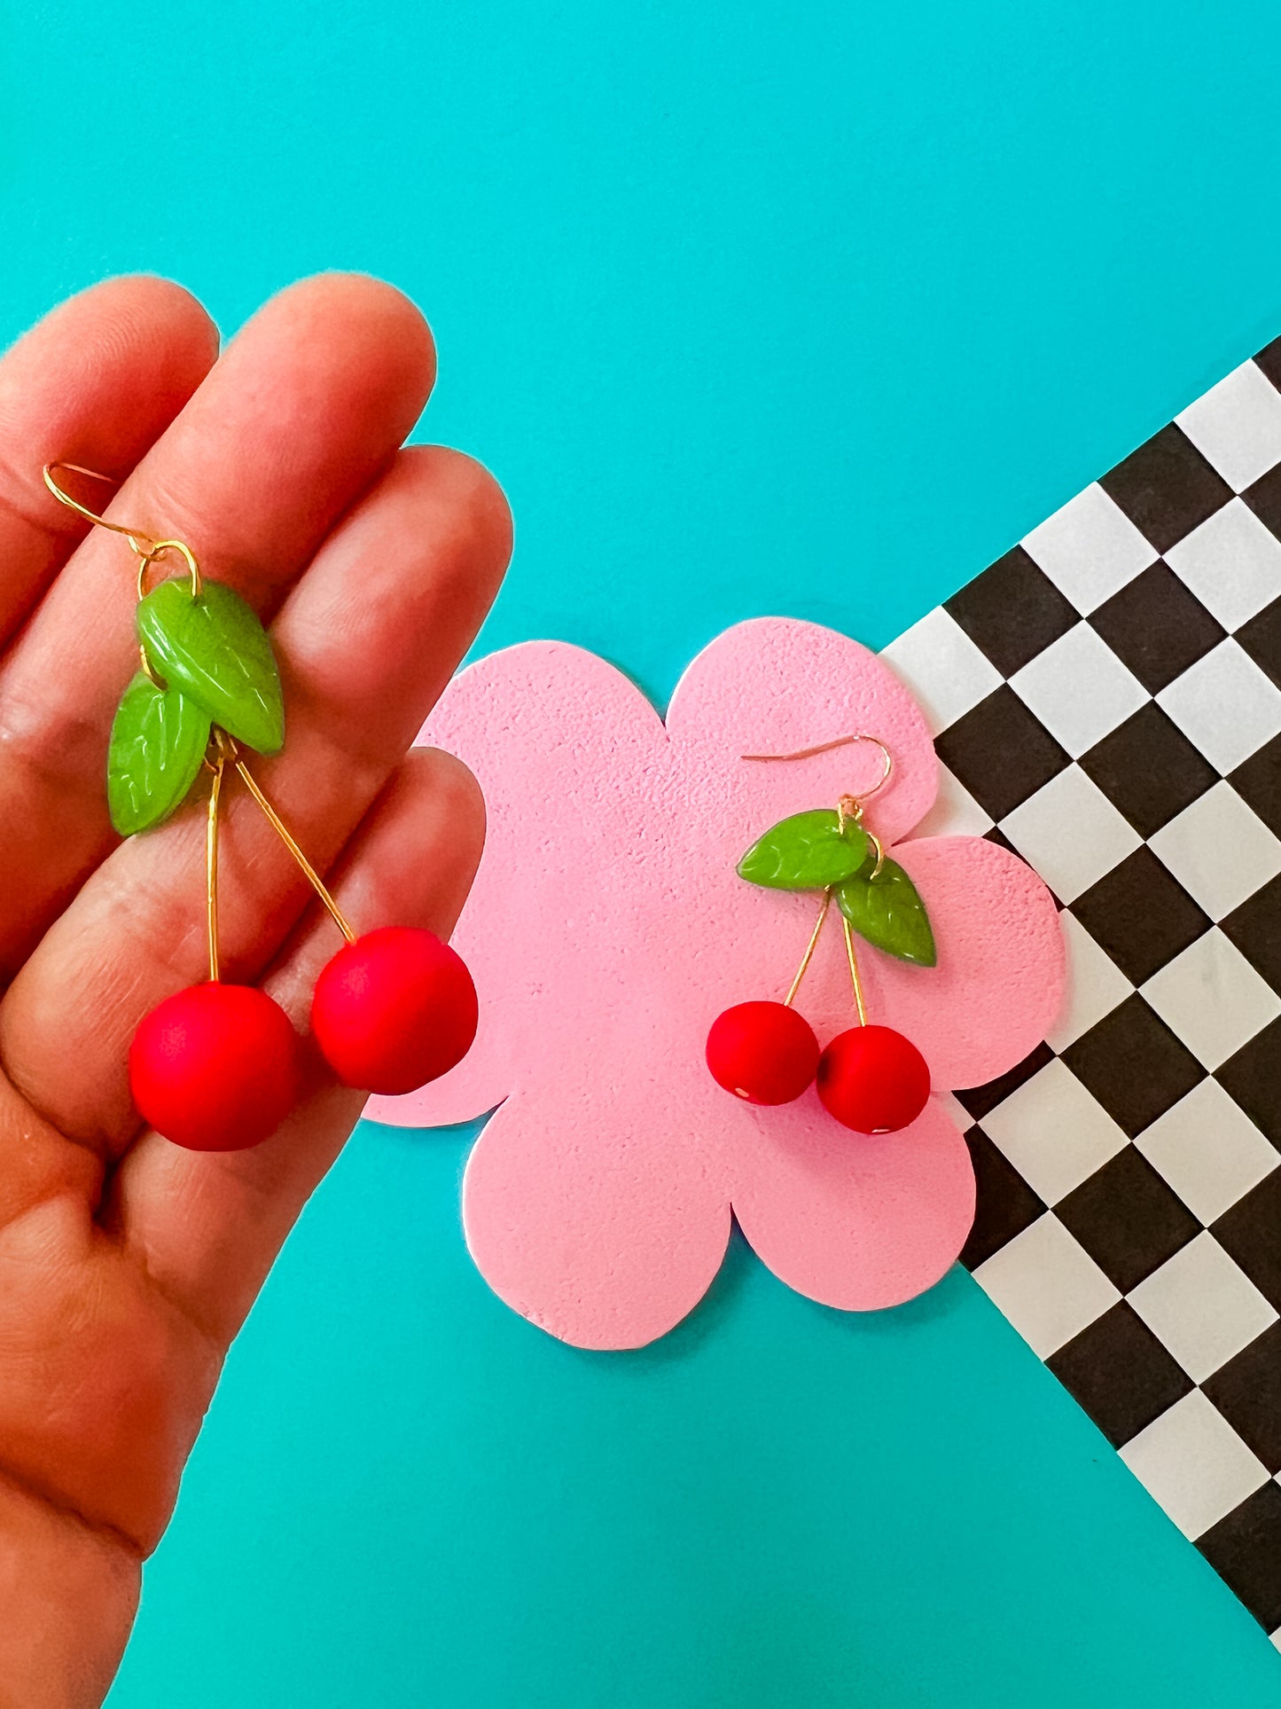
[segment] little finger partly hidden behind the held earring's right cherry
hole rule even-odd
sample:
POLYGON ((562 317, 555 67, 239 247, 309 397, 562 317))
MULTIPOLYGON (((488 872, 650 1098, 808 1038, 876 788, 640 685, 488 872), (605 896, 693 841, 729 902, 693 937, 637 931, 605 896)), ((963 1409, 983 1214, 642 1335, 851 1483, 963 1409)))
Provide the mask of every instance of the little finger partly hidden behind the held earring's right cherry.
MULTIPOLYGON (((418 749, 403 761, 347 849, 336 878, 354 918, 447 937, 463 907, 485 817, 471 772, 418 749)), ((304 1031, 336 933, 309 913, 265 981, 304 1031)), ((309 1090, 289 1121, 248 1152, 186 1152, 145 1133, 116 1171, 106 1224, 155 1285, 217 1345, 227 1345, 299 1212, 352 1130, 364 1092, 336 1087, 314 1049, 309 1090)))

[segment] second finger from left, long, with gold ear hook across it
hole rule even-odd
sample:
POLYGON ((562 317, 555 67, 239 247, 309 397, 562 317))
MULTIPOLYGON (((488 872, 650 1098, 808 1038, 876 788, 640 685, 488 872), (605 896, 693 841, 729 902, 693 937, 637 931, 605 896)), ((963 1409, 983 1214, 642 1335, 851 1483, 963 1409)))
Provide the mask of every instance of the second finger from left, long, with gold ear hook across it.
MULTIPOLYGON (((430 333, 398 291, 343 275, 295 285, 231 344, 111 516, 184 540, 270 612, 395 455, 432 376, 430 333)), ((0 976, 113 844, 104 761, 137 665, 135 567, 120 535, 96 530, 0 667, 0 976)))

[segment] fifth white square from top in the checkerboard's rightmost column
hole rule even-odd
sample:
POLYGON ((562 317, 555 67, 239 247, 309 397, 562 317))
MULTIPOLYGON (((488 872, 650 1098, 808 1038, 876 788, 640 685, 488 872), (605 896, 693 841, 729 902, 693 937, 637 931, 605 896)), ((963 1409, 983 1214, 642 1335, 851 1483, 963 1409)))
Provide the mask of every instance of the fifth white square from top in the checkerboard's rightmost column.
POLYGON ((1281 1015, 1281 998, 1218 926, 1139 990, 1211 1073, 1281 1015))

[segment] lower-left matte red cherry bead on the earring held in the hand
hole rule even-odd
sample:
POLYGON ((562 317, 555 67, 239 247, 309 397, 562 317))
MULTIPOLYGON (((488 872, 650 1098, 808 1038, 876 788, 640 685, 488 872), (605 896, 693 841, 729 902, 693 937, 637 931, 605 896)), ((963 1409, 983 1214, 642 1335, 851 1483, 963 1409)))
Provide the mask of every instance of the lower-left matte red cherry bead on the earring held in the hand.
POLYGON ((133 1034, 138 1114, 174 1145, 236 1152, 280 1126, 299 1097, 299 1037, 284 1008, 251 984, 191 984, 133 1034))

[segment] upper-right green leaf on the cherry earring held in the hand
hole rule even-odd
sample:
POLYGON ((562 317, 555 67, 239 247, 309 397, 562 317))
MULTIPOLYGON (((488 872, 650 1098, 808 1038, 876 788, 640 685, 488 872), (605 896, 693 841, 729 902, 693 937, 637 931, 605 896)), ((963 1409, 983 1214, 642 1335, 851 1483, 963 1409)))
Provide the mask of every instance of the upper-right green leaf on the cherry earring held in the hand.
POLYGON ((207 581, 198 595, 184 576, 138 602, 138 636, 157 677, 258 754, 285 740, 280 677, 266 631, 239 593, 207 581))

